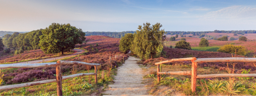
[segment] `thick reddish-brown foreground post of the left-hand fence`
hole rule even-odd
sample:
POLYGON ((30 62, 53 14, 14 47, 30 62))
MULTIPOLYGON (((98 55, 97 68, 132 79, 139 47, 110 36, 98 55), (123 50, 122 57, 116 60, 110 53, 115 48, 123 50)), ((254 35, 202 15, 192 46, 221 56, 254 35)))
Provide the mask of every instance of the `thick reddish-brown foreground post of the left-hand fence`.
POLYGON ((62 96, 61 65, 56 66, 57 96, 62 96))

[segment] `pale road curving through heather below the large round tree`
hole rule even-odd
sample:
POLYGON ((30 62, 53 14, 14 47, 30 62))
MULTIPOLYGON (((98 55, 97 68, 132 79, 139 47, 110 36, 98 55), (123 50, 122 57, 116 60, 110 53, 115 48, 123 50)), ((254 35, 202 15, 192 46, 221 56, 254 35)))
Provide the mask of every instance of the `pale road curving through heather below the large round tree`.
MULTIPOLYGON (((81 49, 73 49, 73 51, 75 51, 74 53, 72 54, 69 54, 69 55, 64 55, 64 56, 60 56, 60 57, 54 57, 54 58, 48 58, 48 59, 44 59, 44 61, 51 61, 51 60, 54 60, 55 58, 56 59, 62 59, 62 58, 65 58, 65 57, 72 57, 73 55, 78 55, 78 54, 81 54, 84 52, 84 50, 81 50, 81 49)), ((43 59, 40 59, 40 60, 34 60, 34 61, 28 61, 28 63, 40 63, 42 62, 43 59)), ((15 64, 24 64, 24 63, 27 63, 26 62, 18 62, 18 63, 15 63, 15 64)))

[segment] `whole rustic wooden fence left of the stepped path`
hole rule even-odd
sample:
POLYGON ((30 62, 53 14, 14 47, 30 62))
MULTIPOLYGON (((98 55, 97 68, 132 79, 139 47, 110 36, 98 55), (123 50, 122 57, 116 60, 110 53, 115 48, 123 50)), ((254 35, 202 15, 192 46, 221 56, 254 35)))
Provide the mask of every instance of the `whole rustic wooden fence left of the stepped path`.
POLYGON ((1 69, 6 68, 37 68, 37 67, 52 67, 56 66, 56 79, 51 80, 41 80, 41 81, 35 81, 35 82, 28 82, 28 83, 22 83, 22 84, 15 84, 15 85, 7 85, 7 86, 0 86, 0 90, 9 90, 14 88, 23 88, 23 87, 29 87, 34 86, 38 84, 45 84, 45 83, 52 83, 57 82, 57 95, 62 96, 62 80, 79 77, 79 76, 86 76, 86 75, 95 75, 95 83, 98 83, 97 80, 97 66, 100 64, 95 63, 86 63, 86 62, 78 62, 78 61, 62 61, 58 60, 57 62, 52 63, 34 63, 34 64, 0 64, 1 69), (88 66, 94 66, 95 72, 94 73, 79 73, 79 74, 73 74, 69 76, 61 76, 61 65, 62 64, 77 64, 77 65, 88 65, 88 66))

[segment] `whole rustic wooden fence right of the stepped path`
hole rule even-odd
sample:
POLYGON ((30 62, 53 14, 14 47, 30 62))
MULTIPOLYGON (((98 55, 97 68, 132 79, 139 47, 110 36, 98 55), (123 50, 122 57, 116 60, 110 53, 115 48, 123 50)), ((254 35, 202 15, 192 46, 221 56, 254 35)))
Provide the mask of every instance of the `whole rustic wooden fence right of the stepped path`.
POLYGON ((215 77, 256 77, 256 74, 208 74, 208 75, 197 75, 197 63, 202 62, 256 62, 256 58, 202 58, 196 59, 181 58, 181 59, 170 59, 155 63, 157 65, 157 80, 160 82, 160 74, 174 74, 174 75, 191 75, 191 90, 196 91, 196 78, 215 78, 215 77), (191 61, 192 71, 174 71, 174 72, 160 72, 160 64, 173 62, 173 61, 191 61))

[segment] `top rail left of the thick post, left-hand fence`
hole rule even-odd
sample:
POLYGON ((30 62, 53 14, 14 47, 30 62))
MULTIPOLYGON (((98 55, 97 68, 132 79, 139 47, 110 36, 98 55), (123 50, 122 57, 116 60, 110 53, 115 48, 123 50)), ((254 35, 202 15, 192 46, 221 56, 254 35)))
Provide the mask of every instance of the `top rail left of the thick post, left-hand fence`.
POLYGON ((36 67, 51 67, 58 66, 60 63, 34 63, 34 64, 0 64, 0 68, 36 68, 36 67))

